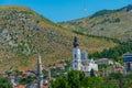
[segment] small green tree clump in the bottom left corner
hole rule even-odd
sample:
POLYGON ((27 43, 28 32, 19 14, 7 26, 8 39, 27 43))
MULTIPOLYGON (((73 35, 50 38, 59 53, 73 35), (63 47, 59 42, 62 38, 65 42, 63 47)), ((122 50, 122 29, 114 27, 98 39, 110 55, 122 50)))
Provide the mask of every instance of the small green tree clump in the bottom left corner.
POLYGON ((13 87, 7 78, 0 77, 0 88, 13 88, 13 87))

